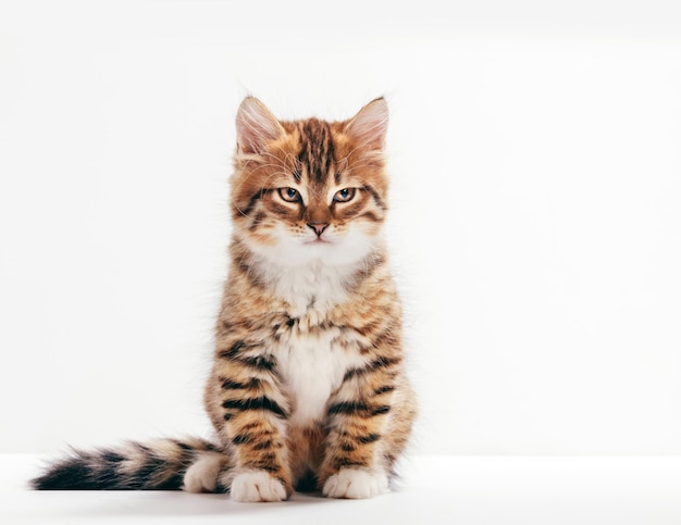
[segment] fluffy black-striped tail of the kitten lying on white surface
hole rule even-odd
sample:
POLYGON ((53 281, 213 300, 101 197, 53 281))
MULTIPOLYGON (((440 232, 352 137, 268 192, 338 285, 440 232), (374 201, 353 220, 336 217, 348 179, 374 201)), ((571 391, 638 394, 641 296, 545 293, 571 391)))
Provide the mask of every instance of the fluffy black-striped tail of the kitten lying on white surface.
POLYGON ((187 468, 206 455, 219 462, 222 453, 198 438, 74 450, 48 466, 30 485, 37 490, 178 490, 187 468))

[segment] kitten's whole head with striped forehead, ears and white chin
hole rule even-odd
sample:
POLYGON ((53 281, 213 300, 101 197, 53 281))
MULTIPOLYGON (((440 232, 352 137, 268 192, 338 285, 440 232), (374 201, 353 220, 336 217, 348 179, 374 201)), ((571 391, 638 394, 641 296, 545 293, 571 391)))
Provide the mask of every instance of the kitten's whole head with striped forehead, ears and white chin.
POLYGON ((247 98, 236 118, 237 235, 277 264, 361 261, 380 240, 386 212, 386 125, 383 99, 349 121, 329 123, 280 122, 247 98))

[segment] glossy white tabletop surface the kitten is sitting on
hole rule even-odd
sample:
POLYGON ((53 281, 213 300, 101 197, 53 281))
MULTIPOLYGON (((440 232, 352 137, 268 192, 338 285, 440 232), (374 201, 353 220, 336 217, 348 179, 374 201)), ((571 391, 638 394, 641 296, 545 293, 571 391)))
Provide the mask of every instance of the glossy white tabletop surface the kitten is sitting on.
POLYGON ((680 458, 420 458, 397 492, 357 501, 294 495, 283 503, 183 492, 24 490, 35 465, 34 457, 0 457, 3 524, 681 523, 680 458))

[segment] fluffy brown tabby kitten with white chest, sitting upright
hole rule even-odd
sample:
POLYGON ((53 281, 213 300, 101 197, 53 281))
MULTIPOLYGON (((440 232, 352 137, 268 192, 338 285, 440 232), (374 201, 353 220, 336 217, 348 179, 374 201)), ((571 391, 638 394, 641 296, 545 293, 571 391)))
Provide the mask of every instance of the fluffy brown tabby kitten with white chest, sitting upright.
POLYGON ((236 116, 231 265, 205 403, 215 429, 75 451, 37 489, 387 489, 416 416, 401 310, 382 226, 387 104, 345 122, 280 122, 255 98, 236 116))

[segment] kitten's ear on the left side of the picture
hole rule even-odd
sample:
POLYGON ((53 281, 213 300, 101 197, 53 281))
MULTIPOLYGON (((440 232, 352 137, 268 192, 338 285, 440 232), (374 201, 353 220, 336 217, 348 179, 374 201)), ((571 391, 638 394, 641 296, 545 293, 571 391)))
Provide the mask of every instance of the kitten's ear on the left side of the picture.
POLYGON ((242 153, 261 153, 267 145, 284 135, 270 110, 255 97, 246 97, 236 113, 236 143, 242 153))

